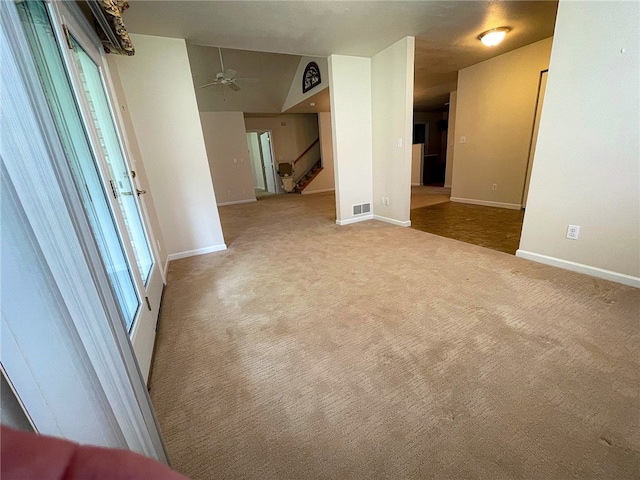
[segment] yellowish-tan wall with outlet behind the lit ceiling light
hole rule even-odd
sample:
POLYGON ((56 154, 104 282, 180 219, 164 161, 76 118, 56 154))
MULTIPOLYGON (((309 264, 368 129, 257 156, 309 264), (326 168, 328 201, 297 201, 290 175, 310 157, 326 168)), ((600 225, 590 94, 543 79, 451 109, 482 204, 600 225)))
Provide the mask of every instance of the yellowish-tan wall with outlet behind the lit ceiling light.
POLYGON ((520 208, 538 81, 549 66, 551 41, 460 70, 451 200, 520 208))

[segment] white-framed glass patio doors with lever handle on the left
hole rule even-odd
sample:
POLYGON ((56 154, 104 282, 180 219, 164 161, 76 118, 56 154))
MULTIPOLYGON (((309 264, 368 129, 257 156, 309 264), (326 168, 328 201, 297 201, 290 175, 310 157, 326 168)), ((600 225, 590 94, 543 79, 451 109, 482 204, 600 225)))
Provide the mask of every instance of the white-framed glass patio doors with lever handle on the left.
POLYGON ((49 5, 48 12, 40 2, 23 2, 18 9, 146 381, 163 282, 139 204, 138 197, 145 192, 135 184, 106 94, 104 54, 99 43, 77 27, 64 4, 49 5), (61 42, 68 48, 59 48, 61 42))

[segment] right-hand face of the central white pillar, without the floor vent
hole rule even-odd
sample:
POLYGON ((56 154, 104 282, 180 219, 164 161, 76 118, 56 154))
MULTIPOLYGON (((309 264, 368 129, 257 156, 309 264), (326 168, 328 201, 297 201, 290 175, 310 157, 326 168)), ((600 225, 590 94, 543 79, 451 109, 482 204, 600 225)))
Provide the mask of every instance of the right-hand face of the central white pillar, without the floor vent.
POLYGON ((373 213, 401 226, 411 225, 414 49, 405 37, 371 59, 373 213))

